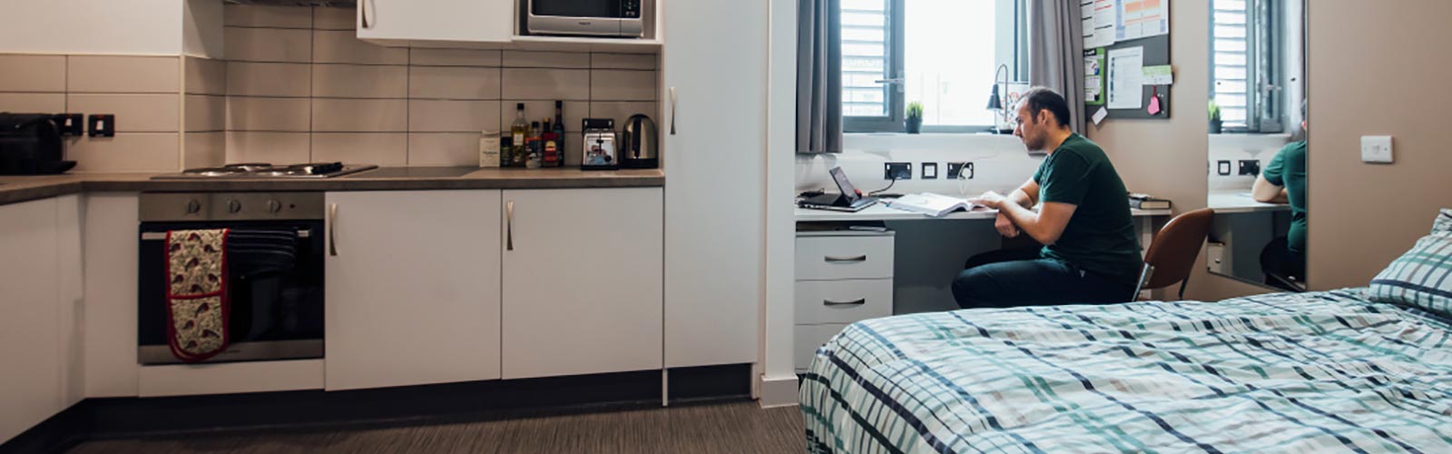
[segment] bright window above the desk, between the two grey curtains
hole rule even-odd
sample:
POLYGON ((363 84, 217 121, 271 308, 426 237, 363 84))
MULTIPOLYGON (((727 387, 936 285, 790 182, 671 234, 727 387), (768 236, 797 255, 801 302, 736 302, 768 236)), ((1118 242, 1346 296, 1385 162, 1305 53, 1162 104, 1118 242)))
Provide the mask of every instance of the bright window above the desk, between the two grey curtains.
POLYGON ((1025 0, 842 0, 847 132, 902 132, 909 102, 925 132, 977 132, 999 64, 1028 79, 1025 0))

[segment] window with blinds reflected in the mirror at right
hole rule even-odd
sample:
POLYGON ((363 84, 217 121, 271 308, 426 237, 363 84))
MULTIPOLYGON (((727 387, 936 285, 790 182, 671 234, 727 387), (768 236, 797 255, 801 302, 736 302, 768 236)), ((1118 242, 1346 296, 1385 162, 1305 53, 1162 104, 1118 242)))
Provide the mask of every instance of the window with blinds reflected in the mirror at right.
POLYGON ((1211 86, 1227 132, 1281 132, 1284 0, 1211 1, 1211 86))

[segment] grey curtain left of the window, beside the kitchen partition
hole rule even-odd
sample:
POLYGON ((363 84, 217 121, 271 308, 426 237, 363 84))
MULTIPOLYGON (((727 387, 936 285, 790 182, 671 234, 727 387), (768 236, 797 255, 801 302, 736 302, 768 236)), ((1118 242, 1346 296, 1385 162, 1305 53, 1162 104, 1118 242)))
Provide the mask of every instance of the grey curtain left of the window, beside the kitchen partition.
POLYGON ((797 153, 842 153, 841 0, 797 0, 797 153))

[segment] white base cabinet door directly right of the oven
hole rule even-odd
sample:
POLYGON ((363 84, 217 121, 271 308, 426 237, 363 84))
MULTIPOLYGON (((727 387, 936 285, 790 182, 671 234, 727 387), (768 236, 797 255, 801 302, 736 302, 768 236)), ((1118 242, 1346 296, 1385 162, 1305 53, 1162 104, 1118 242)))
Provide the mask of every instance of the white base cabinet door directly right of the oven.
POLYGON ((499 378, 499 191, 327 202, 327 389, 499 378))

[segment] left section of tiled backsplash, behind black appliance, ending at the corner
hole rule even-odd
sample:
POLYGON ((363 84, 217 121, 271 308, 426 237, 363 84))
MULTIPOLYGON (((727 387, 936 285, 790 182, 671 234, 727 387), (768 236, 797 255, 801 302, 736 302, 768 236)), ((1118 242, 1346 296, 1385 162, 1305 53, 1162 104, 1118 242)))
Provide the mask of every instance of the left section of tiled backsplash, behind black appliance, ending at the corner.
POLYGON ((0 55, 0 112, 115 114, 116 137, 68 143, 76 172, 182 166, 179 57, 0 55))

